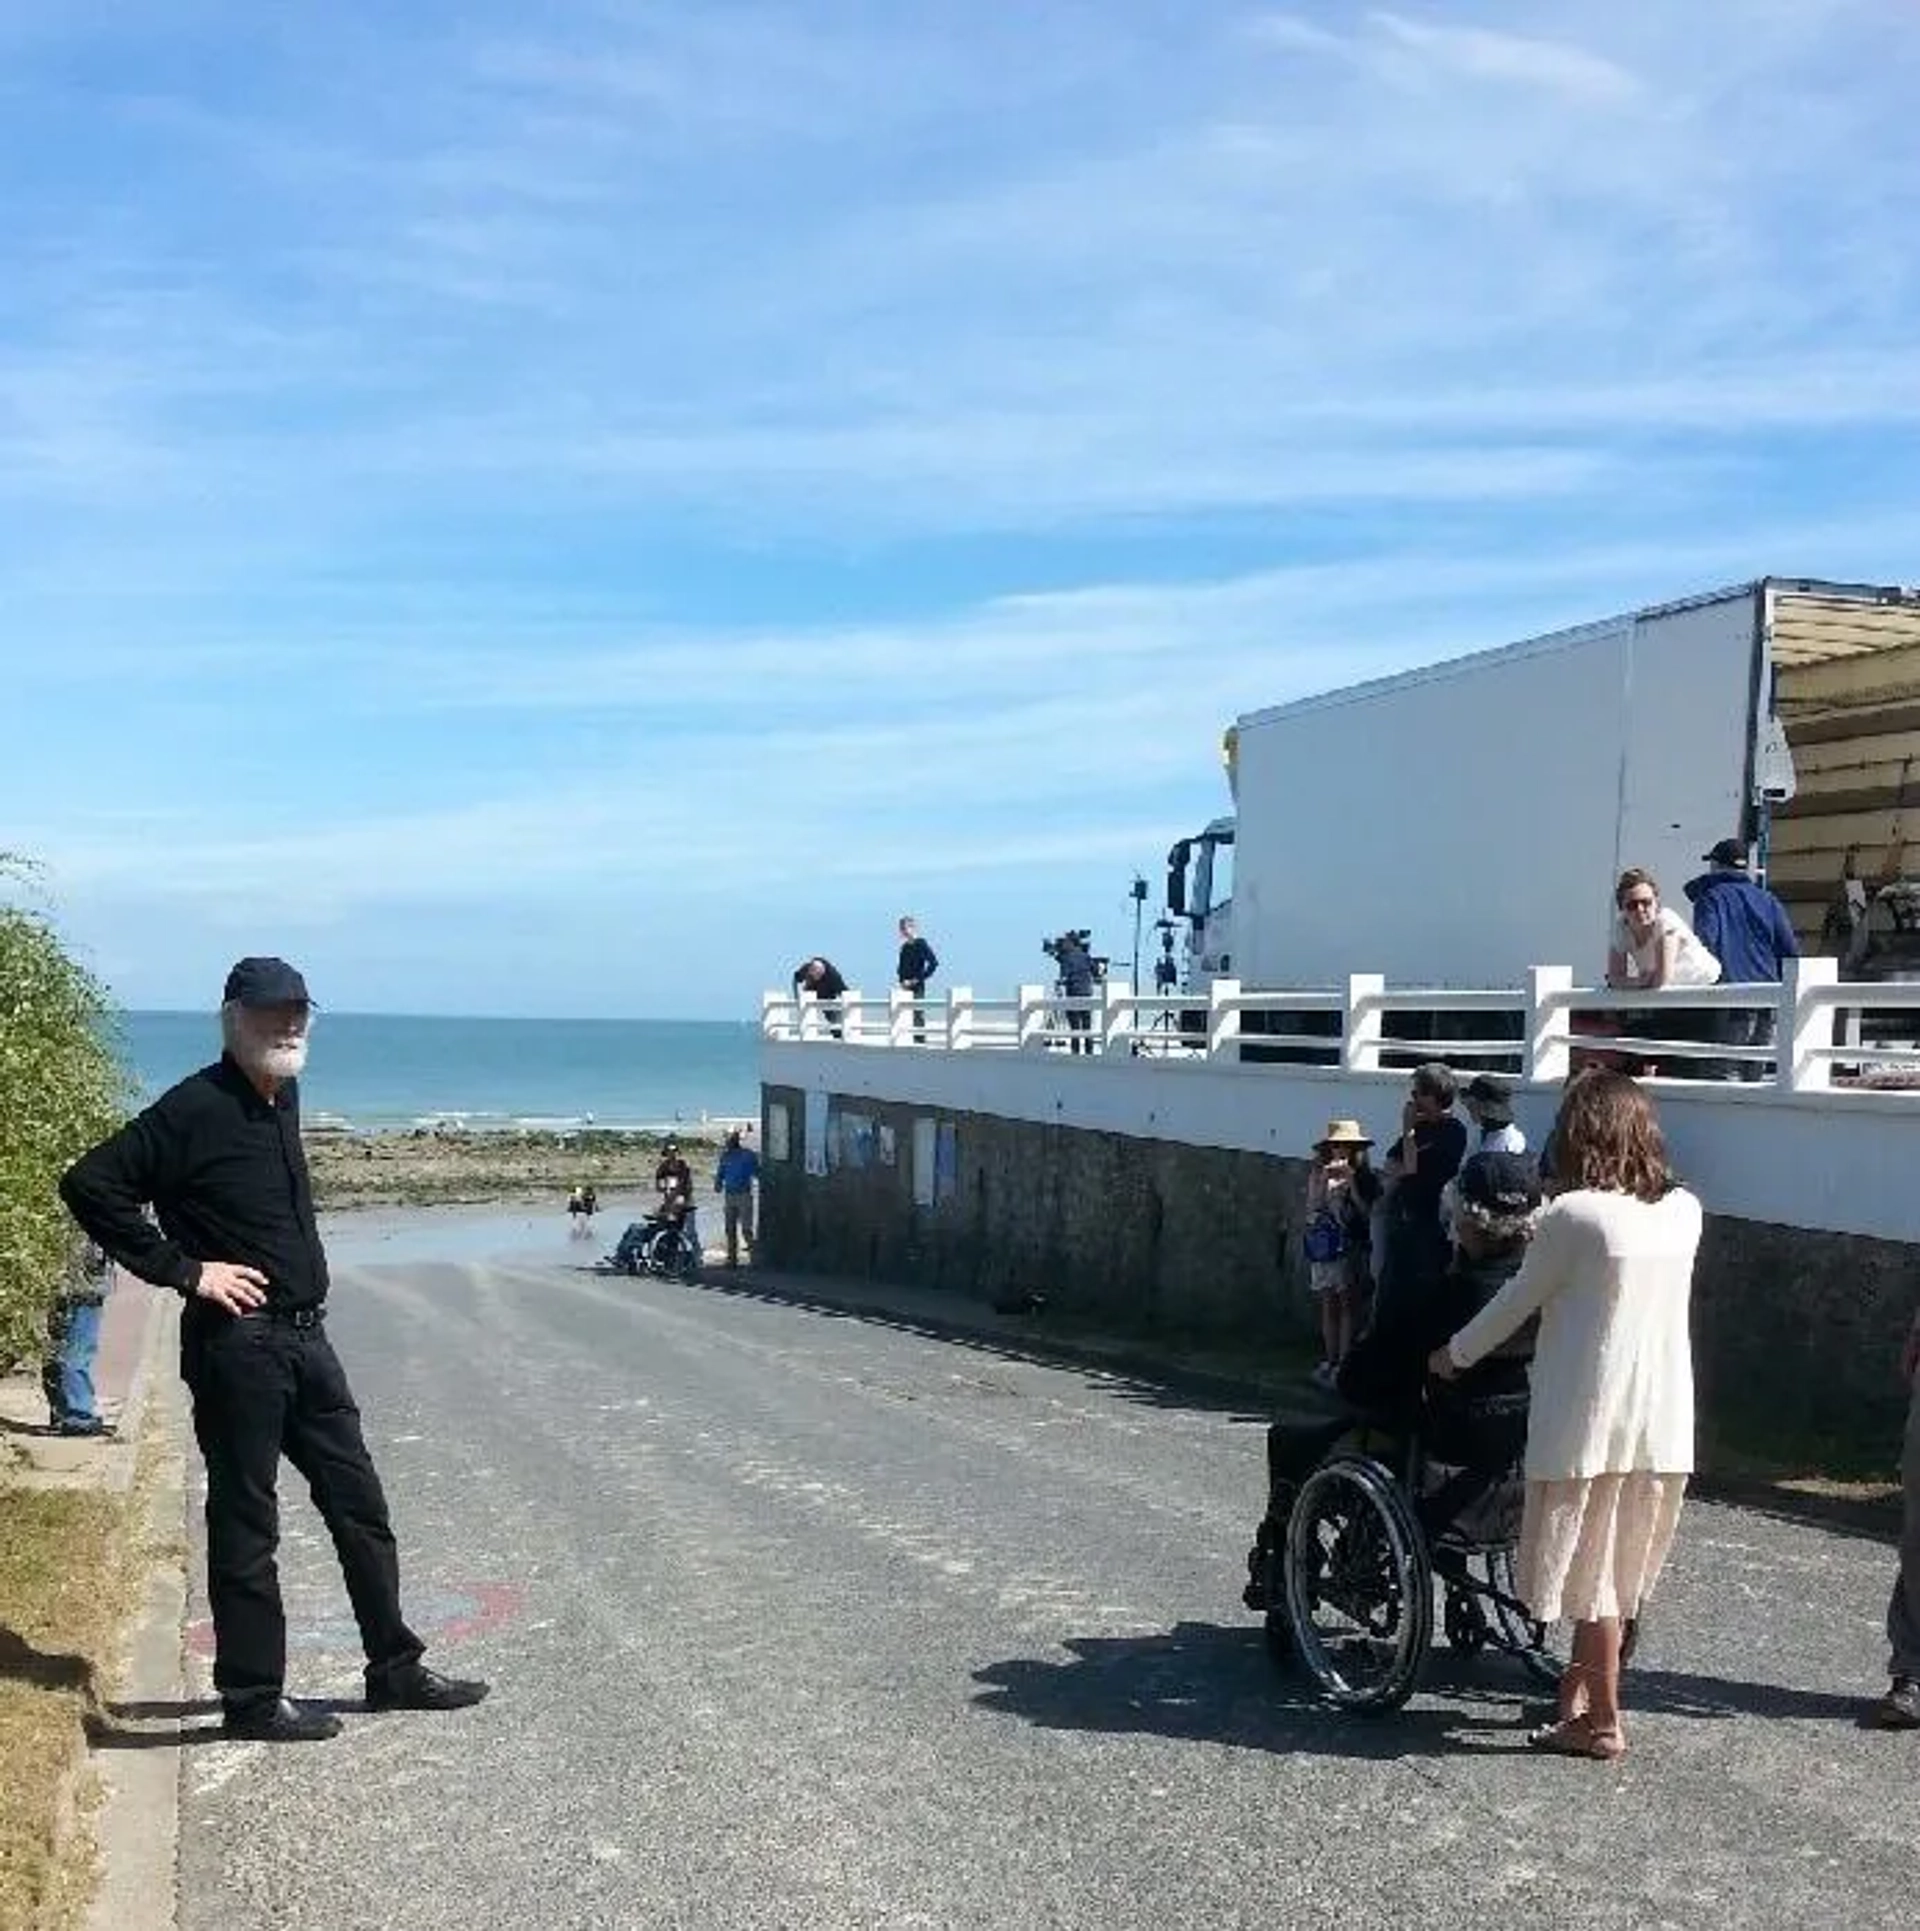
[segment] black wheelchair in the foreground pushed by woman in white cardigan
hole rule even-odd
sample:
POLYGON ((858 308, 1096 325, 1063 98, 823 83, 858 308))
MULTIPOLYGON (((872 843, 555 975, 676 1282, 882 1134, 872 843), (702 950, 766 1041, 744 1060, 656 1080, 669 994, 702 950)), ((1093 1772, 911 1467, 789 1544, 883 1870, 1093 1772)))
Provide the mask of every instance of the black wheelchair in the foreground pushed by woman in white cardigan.
POLYGON ((1572 1632, 1539 1624, 1516 1593, 1524 1400, 1460 1437, 1427 1404, 1406 1427, 1342 1413, 1269 1431, 1246 1601, 1265 1610, 1275 1659, 1300 1663, 1339 1709, 1406 1703, 1435 1620, 1456 1655, 1512 1657, 1541 1684, 1567 1668, 1572 1632))

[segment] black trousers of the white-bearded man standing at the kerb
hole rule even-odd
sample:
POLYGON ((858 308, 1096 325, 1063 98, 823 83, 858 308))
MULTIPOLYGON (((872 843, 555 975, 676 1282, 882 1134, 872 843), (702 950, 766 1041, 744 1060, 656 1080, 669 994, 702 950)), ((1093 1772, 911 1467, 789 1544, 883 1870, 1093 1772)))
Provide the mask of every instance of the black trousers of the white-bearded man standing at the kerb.
POLYGON ((280 1456, 307 1479, 369 1670, 417 1663, 421 1639, 400 1614, 400 1556, 359 1410, 325 1327, 270 1315, 234 1319, 189 1305, 180 1369, 193 1396, 193 1439, 207 1464, 207 1595, 212 1682, 228 1707, 280 1695, 280 1456))

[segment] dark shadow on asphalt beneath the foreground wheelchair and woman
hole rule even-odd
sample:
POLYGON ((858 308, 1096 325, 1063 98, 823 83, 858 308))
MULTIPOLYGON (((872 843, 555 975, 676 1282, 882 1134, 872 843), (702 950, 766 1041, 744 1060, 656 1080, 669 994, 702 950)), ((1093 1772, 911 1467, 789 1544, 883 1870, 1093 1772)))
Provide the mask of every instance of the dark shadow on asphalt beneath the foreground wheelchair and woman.
MULTIPOLYGON (((1257 1626, 1182 1622, 1163 1636, 1068 1637, 1068 1661, 1014 1657, 975 1670, 981 1709, 1045 1730, 1167 1736, 1277 1755, 1431 1757, 1520 1748, 1551 1695, 1505 1657, 1435 1649, 1418 1697, 1385 1717, 1329 1709, 1306 1674, 1267 1655, 1257 1626)), ((1862 1722, 1864 1699, 1781 1684, 1630 1670, 1630 1715, 1862 1722)))

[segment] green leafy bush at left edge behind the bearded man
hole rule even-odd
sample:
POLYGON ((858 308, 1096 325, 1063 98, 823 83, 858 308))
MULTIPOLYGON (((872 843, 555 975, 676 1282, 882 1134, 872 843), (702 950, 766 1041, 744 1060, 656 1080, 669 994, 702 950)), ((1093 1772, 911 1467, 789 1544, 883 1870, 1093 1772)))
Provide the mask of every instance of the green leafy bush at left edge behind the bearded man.
MULTIPOLYGON (((0 854, 0 890, 29 879, 0 854)), ((73 1240, 60 1174, 129 1097, 106 989, 39 911, 0 902, 0 1367, 41 1350, 73 1240)))

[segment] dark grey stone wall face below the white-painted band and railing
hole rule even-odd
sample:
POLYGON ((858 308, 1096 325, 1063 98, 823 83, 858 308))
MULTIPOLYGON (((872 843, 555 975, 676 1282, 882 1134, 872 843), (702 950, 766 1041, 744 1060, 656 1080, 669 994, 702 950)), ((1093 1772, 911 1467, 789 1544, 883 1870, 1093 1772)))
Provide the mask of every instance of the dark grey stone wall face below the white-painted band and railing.
MULTIPOLYGON (((815 1097, 819 1105, 819 1097, 815 1097)), ((1300 1261, 1306 1162, 881 1099, 831 1099, 809 1174, 802 1093, 763 1089, 761 1255, 784 1269, 946 1288, 1118 1332, 1271 1344, 1313 1334, 1300 1261), (916 1189, 916 1122, 950 1132, 916 1189), (890 1155, 890 1159, 889 1159, 890 1155), (933 1193, 931 1201, 916 1199, 933 1193)), ((921 1128, 925 1153, 925 1128, 921 1128)), ((1787 1454, 1885 1444, 1920 1247, 1709 1215, 1694 1282, 1706 1433, 1787 1454)))

